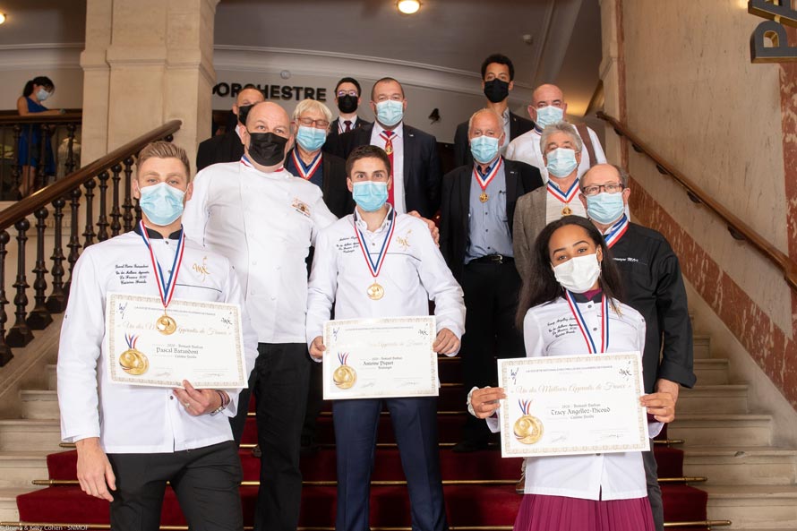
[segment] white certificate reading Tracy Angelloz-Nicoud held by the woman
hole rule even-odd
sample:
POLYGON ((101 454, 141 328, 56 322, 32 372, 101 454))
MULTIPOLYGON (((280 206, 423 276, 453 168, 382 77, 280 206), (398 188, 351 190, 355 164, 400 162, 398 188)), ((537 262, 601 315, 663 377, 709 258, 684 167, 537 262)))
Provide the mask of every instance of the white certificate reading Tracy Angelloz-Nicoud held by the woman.
POLYGON ((501 456, 648 450, 638 352, 498 360, 501 456))

